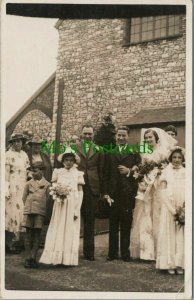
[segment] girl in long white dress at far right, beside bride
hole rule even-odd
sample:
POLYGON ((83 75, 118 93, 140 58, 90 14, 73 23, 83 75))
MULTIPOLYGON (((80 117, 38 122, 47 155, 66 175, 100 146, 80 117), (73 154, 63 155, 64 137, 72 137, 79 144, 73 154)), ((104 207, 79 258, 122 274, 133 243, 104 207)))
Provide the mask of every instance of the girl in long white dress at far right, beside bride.
POLYGON ((175 222, 179 207, 184 215, 184 160, 184 149, 175 147, 169 156, 170 163, 160 178, 161 215, 156 268, 166 269, 169 274, 184 272, 184 225, 175 222))

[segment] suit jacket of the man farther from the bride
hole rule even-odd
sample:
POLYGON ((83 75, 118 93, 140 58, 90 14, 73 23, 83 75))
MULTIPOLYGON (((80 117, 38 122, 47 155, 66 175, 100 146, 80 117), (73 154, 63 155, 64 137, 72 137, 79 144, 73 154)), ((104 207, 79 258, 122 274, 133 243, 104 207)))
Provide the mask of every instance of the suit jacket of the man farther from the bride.
POLYGON ((80 157, 78 170, 84 172, 85 185, 90 187, 93 195, 99 195, 102 189, 104 157, 92 147, 97 147, 97 145, 92 143, 91 148, 85 153, 82 142, 76 145, 76 153, 80 157))

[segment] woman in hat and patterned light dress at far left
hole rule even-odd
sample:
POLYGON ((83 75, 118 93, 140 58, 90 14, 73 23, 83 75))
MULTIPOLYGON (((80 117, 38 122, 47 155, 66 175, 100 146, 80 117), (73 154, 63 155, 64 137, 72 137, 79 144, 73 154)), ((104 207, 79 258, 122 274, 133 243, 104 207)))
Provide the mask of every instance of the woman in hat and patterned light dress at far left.
POLYGON ((27 154, 21 150, 26 138, 15 133, 9 140, 10 148, 5 153, 5 230, 6 247, 12 253, 19 253, 20 232, 22 232, 22 195, 30 166, 27 154), (17 247, 18 244, 18 247, 17 247))

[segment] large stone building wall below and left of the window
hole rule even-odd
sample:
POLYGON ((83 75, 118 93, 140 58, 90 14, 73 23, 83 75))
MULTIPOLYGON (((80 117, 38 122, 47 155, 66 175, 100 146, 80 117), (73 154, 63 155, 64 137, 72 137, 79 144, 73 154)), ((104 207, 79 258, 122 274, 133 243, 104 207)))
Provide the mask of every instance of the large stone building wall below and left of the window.
POLYGON ((112 111, 122 124, 141 109, 185 104, 185 17, 178 38, 124 46, 126 20, 64 20, 58 27, 52 136, 64 79, 61 140, 112 111))

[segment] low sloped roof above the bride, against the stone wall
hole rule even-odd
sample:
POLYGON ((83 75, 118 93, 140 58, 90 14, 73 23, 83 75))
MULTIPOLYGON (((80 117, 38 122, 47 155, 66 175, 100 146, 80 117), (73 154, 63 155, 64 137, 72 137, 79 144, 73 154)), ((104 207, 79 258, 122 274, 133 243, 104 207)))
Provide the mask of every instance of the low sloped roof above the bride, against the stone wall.
POLYGON ((169 122, 184 122, 185 106, 142 109, 135 116, 126 120, 125 125, 142 125, 169 122))

